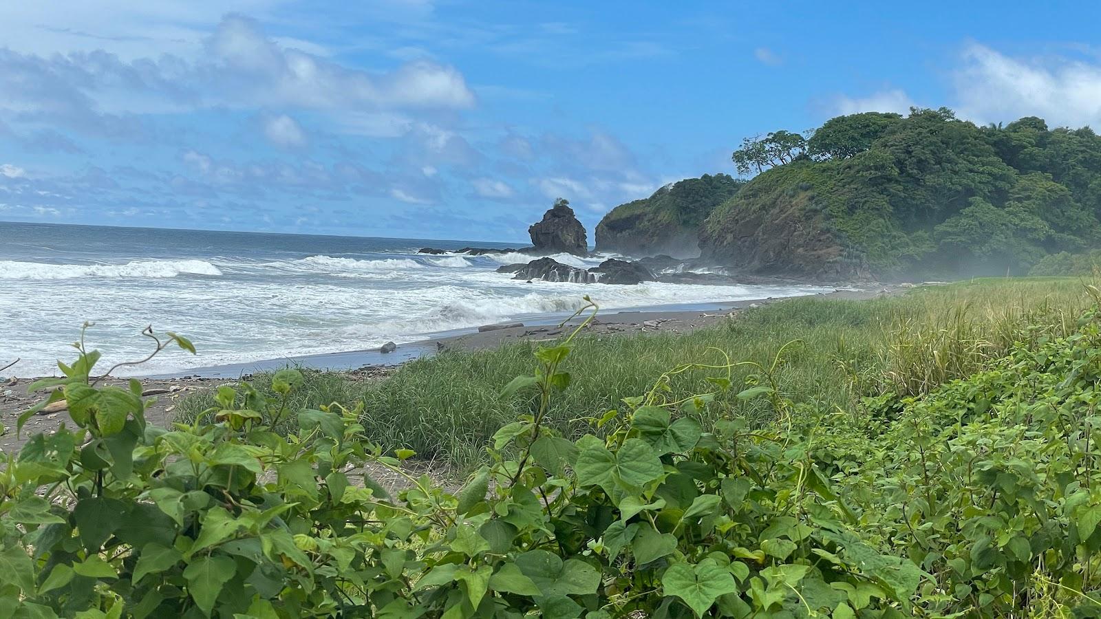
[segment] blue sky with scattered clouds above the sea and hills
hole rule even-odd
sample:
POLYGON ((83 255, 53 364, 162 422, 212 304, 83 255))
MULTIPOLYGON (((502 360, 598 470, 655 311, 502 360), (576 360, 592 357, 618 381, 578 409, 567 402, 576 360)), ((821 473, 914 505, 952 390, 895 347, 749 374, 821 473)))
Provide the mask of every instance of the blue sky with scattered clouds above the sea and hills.
POLYGON ((0 3, 0 220, 590 234, 741 140, 955 109, 1101 129, 1101 2, 0 3))

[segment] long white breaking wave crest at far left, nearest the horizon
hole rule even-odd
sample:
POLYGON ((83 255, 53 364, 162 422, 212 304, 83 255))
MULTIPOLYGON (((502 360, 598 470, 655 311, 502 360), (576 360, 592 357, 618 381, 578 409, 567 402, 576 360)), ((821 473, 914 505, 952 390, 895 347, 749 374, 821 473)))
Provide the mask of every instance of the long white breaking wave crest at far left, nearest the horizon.
POLYGON ((221 275, 205 260, 148 260, 126 264, 50 264, 0 260, 0 280, 72 280, 76 278, 175 278, 221 275))

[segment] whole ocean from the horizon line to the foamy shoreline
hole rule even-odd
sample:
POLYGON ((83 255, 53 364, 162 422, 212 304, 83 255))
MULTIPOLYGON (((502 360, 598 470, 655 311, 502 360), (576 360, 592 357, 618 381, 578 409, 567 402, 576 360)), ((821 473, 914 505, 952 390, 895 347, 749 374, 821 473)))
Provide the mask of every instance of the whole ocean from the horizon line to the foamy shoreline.
MULTIPOLYGON (((3 376, 59 373, 85 341, 106 369, 143 357, 141 330, 176 332, 168 350, 120 376, 377 348, 513 319, 568 315, 589 294, 602 310, 693 308, 819 292, 806 286, 576 284, 514 281, 516 253, 416 253, 510 243, 0 222, 3 376)), ((516 243, 511 243, 516 247, 516 243)), ((604 257, 555 256, 596 267, 604 257)))

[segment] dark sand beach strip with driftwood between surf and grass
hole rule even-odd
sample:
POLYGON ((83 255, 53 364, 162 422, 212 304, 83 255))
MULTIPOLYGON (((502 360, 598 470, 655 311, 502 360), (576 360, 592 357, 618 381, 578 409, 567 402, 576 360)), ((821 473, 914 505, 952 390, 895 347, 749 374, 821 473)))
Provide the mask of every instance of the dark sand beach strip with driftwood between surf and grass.
MULTIPOLYGON (((822 298, 871 298, 883 294, 892 294, 901 287, 875 287, 868 291, 836 291, 819 294, 822 298)), ((632 333, 687 333, 694 329, 713 325, 727 319, 748 307, 782 302, 784 298, 760 298, 718 303, 705 306, 702 310, 673 312, 617 312, 600 313, 593 323, 585 330, 589 335, 615 335, 632 333)), ((570 325, 580 324, 584 317, 576 317, 570 325)), ((483 333, 464 333, 437 337, 422 341, 399 345, 390 354, 378 350, 356 350, 331 355, 313 355, 305 357, 287 357, 253 363, 219 366, 188 370, 179 376, 153 376, 139 378, 150 398, 155 402, 148 409, 146 419, 150 423, 167 426, 172 423, 175 402, 188 393, 206 390, 240 380, 258 371, 273 370, 286 366, 301 366, 335 371, 348 371, 350 376, 361 380, 378 380, 400 363, 423 356, 434 355, 437 350, 484 350, 502 344, 521 340, 553 340, 568 335, 569 325, 558 327, 559 319, 546 318, 527 325, 512 326, 483 333), (156 393, 152 395, 152 393, 156 393)), ((108 379, 101 384, 126 385, 129 379, 108 379)), ((15 419, 21 411, 34 405, 44 395, 28 393, 26 388, 33 379, 8 379, 0 381, 0 421, 7 426, 7 432, 0 436, 0 452, 15 453, 26 442, 30 435, 39 432, 52 432, 62 422, 68 420, 68 413, 57 411, 37 414, 23 427, 22 436, 15 435, 15 419)))

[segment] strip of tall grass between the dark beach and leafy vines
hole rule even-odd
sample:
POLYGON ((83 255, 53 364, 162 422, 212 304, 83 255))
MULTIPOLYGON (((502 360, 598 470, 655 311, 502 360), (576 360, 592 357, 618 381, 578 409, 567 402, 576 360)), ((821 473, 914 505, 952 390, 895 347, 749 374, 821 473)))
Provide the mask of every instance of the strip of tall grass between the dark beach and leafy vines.
MULTIPOLYGON (((1015 340, 1065 335, 1091 303, 1076 279, 990 279, 924 286, 869 301, 793 298, 745 311, 720 325, 684 335, 581 337, 564 369, 573 381, 556 397, 549 423, 566 433, 588 428, 587 417, 646 392, 682 363, 756 361, 767 365, 785 344, 780 384, 796 401, 850 408, 861 395, 912 395, 981 369, 1015 340)), ((531 412, 522 395, 502 398, 512 378, 531 373, 534 345, 519 343, 478 352, 450 351, 402 366, 392 377, 356 382, 339 372, 307 372, 292 405, 362 400, 369 435, 421 457, 466 468, 502 425, 531 412)), ((733 373, 735 389, 750 369, 733 373)), ((671 399, 712 391, 716 370, 690 370, 671 383, 671 399)), ((254 384, 266 387, 258 377, 254 384)), ((209 394, 181 402, 184 419, 211 403, 209 394)), ((731 399, 751 422, 770 419, 767 404, 731 399)), ((705 420, 706 421, 706 420, 705 420)))

